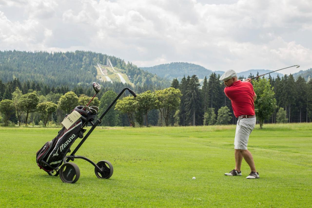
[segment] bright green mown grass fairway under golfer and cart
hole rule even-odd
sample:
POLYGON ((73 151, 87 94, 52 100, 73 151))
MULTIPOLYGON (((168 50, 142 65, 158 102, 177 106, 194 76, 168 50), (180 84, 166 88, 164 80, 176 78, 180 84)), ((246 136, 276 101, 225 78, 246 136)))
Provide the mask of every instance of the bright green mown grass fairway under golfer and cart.
POLYGON ((260 174, 255 180, 246 179, 245 161, 243 176, 224 176, 234 169, 235 127, 97 127, 77 155, 110 161, 114 174, 98 179, 90 163, 76 159, 75 184, 36 164, 37 150, 60 128, 2 127, 0 205, 311 207, 312 124, 257 125, 248 144, 260 174))

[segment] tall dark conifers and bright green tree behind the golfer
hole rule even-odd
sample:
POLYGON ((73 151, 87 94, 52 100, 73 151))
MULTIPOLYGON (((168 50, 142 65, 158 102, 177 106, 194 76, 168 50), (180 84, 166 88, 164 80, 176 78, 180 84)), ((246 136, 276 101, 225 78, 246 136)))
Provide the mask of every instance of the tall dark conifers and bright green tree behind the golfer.
MULTIPOLYGON (((252 77, 255 76, 250 74, 247 78, 252 77)), ((215 73, 212 73, 208 80, 205 77, 201 89, 199 89, 199 82, 195 75, 183 77, 181 82, 178 82, 177 79, 173 80, 172 86, 182 92, 179 112, 180 125, 205 125, 209 121, 209 116, 217 115, 218 109, 221 109, 222 106, 227 106, 229 109, 229 114, 232 116, 230 123, 236 123, 237 119, 234 116, 231 101, 223 92, 225 85, 219 81, 219 78, 220 75, 215 73)), ((238 79, 243 78, 246 79, 246 77, 238 77, 238 79)), ((280 107, 285 110, 284 122, 285 120, 287 122, 312 121, 312 79, 306 82, 299 76, 295 81, 290 74, 284 77, 277 76, 275 79, 271 76, 268 79, 258 78, 254 79, 252 83, 258 95, 255 109, 257 122, 261 125, 276 123, 280 107), (264 108, 265 102, 267 105, 264 108)))

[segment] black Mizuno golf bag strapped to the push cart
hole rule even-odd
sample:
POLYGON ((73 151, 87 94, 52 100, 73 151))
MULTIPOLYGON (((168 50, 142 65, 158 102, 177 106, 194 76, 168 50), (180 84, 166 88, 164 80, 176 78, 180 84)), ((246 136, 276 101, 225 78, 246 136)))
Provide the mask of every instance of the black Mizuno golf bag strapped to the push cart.
MULTIPOLYGON (((68 152, 70 152, 71 145, 79 137, 83 138, 83 133, 86 129, 83 129, 88 122, 94 120, 97 115, 98 107, 91 106, 86 107, 77 106, 75 111, 81 114, 81 117, 74 122, 68 129, 63 126, 63 128, 58 132, 57 136, 51 141, 47 141, 46 144, 37 151, 37 165, 40 169, 43 169, 47 172, 54 170, 53 168, 58 168, 62 162, 63 158, 68 152), (88 111, 88 109, 90 111, 88 111)), ((67 117, 67 114, 65 118, 67 117)))

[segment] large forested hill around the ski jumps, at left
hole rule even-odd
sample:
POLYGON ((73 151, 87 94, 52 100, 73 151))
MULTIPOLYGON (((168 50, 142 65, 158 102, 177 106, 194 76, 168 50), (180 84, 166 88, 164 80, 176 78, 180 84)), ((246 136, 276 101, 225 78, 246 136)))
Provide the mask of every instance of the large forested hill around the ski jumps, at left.
POLYGON ((132 63, 126 64, 120 58, 90 51, 0 51, 0 79, 2 82, 9 82, 17 78, 21 82, 41 82, 50 87, 90 84, 97 81, 95 66, 97 63, 106 65, 107 57, 114 67, 124 70, 124 73, 132 77, 134 85, 170 85, 168 80, 145 72, 132 63))

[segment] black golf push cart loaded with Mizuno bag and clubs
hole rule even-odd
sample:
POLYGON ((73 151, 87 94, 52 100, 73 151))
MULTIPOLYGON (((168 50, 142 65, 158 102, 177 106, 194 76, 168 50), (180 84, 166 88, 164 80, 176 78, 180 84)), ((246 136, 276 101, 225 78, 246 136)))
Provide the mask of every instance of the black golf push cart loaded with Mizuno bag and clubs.
MULTIPOLYGON (((93 88, 95 90, 95 95, 90 102, 100 91, 101 86, 97 82, 93 82, 93 88)), ((99 108, 96 106, 89 107, 90 102, 86 106, 77 106, 69 115, 66 114, 62 121, 63 128, 58 132, 57 136, 52 141, 47 141, 46 144, 37 151, 36 161, 40 169, 43 169, 51 176, 60 175, 61 180, 65 183, 75 183, 80 177, 80 170, 75 163, 69 161, 74 161, 74 159, 79 158, 90 162, 95 167, 95 175, 98 178, 110 178, 113 174, 113 166, 109 161, 102 160, 95 164, 95 162, 88 158, 76 156, 75 154, 95 127, 101 123, 102 118, 125 90, 128 90, 136 97, 136 94, 131 89, 127 87, 124 88, 100 118, 96 118, 99 108), (86 129, 83 128, 87 126, 88 123, 90 123, 92 127, 87 134, 83 136, 86 131, 86 129), (82 140, 74 151, 71 152, 70 147, 78 137, 82 138, 82 140), (71 152, 71 155, 66 156, 69 152, 71 152)))

